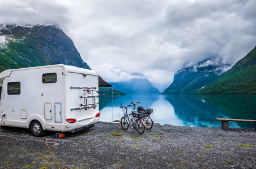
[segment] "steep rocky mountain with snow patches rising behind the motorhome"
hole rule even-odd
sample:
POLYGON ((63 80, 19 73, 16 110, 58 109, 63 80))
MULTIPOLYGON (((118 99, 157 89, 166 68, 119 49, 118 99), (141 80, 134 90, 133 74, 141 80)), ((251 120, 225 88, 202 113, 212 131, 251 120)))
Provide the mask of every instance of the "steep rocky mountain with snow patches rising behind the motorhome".
POLYGON ((0 72, 52 64, 90 69, 72 40, 53 25, 0 25, 0 52, 0 72))

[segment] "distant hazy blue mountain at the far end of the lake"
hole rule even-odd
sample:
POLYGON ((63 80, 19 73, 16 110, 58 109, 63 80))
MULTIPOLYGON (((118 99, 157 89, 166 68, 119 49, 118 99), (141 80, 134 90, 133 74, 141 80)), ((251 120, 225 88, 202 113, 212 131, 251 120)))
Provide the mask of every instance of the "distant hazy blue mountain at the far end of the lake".
POLYGON ((115 90, 125 94, 159 94, 159 90, 148 79, 131 79, 128 82, 110 82, 110 84, 115 90))

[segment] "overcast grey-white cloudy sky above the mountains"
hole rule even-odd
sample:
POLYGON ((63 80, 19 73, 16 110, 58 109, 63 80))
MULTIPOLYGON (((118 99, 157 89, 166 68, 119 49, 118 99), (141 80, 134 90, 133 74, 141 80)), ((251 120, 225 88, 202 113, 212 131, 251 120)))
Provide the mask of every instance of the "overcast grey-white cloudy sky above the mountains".
POLYGON ((248 54, 255 9, 255 0, 0 0, 0 23, 58 25, 106 81, 146 77, 161 90, 184 66, 248 54))

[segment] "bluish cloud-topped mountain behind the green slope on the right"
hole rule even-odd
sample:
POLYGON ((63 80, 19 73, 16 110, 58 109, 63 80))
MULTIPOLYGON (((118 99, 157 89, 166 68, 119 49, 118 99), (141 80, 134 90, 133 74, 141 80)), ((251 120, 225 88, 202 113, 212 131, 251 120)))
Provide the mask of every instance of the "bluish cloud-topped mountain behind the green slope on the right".
POLYGON ((228 64, 206 60, 195 66, 178 70, 174 75, 172 84, 165 89, 163 94, 191 94, 199 88, 203 88, 214 82, 229 67, 228 64))

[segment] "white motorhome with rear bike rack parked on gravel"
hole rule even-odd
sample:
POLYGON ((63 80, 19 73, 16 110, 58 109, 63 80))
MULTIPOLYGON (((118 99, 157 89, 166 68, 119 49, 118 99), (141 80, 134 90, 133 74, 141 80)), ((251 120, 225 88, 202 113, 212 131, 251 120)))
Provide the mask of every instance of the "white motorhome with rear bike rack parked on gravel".
POLYGON ((78 132, 98 122, 99 75, 67 65, 10 69, 0 73, 2 126, 78 132))

